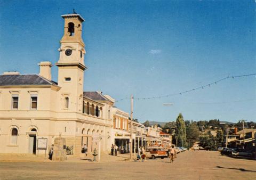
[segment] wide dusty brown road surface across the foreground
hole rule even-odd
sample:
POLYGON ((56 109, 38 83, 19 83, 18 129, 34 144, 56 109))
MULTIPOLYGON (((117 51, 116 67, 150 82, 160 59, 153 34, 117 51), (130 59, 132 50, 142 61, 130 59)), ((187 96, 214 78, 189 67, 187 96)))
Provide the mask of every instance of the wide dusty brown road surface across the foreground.
POLYGON ((189 151, 146 162, 0 162, 0 179, 255 179, 256 161, 189 151))

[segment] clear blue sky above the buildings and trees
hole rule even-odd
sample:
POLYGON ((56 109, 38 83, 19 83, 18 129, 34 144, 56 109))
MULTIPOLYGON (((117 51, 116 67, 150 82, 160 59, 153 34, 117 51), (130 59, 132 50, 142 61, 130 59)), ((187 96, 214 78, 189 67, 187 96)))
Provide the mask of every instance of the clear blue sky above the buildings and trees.
MULTIPOLYGON (((0 73, 58 61, 62 14, 83 16, 84 91, 153 97, 256 72, 255 1, 3 1, 0 73)), ((52 68, 53 80, 58 68, 52 68)), ((256 120, 255 76, 162 99, 134 100, 134 118, 256 120), (163 106, 163 103, 173 103, 163 106)), ((130 100, 116 103, 130 112, 130 100)))

